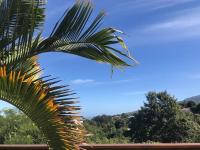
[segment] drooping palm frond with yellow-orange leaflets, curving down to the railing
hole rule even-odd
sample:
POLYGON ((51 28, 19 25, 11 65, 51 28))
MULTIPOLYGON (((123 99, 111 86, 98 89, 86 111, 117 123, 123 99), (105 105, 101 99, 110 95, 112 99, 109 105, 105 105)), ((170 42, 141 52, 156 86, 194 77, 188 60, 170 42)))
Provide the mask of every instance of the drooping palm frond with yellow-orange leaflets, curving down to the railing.
POLYGON ((78 149, 83 138, 80 107, 69 97, 69 89, 55 83, 0 67, 0 99, 23 111, 44 133, 50 148, 78 149))

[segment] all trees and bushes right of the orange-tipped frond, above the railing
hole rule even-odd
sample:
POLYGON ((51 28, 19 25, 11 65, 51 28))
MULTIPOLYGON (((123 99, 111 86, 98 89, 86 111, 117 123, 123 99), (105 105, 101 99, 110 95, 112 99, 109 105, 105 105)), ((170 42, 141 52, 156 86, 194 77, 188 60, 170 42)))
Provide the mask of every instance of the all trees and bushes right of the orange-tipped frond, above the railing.
MULTIPOLYGON (((140 110, 86 120, 89 143, 177 143, 200 141, 200 115, 185 111, 167 92, 147 94, 140 110)), ((191 102, 190 102, 191 103, 191 102)), ((192 104, 192 103, 191 103, 192 104)), ((198 105, 197 105, 198 106, 198 105)))

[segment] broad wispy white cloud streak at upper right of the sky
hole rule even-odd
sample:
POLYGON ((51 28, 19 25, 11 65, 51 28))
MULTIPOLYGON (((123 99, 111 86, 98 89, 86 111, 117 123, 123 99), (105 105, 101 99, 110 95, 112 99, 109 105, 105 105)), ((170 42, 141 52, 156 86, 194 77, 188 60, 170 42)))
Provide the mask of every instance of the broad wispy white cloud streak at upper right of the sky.
POLYGON ((169 42, 200 37, 200 7, 168 16, 164 20, 132 30, 139 44, 169 42))

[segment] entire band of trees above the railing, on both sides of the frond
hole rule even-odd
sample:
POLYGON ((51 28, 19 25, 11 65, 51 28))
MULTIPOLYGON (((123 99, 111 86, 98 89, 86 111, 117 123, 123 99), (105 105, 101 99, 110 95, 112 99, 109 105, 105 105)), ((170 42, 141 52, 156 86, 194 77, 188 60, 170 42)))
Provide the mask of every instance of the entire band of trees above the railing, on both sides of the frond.
MULTIPOLYGON (((149 92, 138 111, 85 119, 86 143, 177 143, 200 141, 200 105, 178 102, 167 92, 149 92)), ((41 144, 35 124, 14 109, 0 113, 0 144, 41 144)))

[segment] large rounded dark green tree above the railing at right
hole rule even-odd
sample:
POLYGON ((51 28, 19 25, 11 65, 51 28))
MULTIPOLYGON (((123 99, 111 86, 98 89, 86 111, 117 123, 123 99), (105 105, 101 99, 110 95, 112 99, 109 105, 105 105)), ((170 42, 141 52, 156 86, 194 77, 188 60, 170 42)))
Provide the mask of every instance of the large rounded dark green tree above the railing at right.
POLYGON ((167 92, 147 94, 147 102, 130 119, 134 142, 197 142, 200 126, 167 92))

